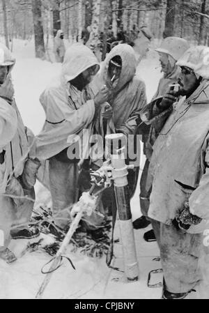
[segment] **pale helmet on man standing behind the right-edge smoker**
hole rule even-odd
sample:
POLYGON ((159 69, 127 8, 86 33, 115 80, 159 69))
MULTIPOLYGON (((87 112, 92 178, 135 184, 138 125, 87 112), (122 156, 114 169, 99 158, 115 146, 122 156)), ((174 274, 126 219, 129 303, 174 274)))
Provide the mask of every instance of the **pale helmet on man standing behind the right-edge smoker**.
POLYGON ((155 51, 169 54, 173 59, 178 61, 187 49, 189 49, 187 40, 180 37, 167 37, 162 40, 160 47, 155 49, 155 51))

